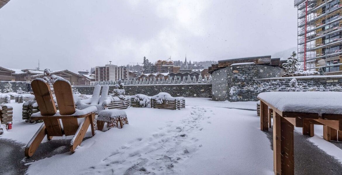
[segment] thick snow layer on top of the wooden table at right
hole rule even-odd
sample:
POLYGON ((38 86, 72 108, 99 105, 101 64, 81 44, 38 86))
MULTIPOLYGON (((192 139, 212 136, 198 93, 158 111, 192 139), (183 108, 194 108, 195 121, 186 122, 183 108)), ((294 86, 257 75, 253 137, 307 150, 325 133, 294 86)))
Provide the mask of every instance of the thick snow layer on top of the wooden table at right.
POLYGON ((342 92, 262 92, 258 98, 282 112, 342 114, 342 92))

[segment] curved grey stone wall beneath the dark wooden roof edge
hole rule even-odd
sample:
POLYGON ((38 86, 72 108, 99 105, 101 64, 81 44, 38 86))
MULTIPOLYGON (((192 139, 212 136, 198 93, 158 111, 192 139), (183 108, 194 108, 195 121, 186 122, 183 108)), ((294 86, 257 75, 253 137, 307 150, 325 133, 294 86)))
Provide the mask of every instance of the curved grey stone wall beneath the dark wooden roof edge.
POLYGON ((281 77, 282 68, 261 64, 240 64, 226 67, 212 73, 212 99, 218 101, 231 100, 231 87, 253 82, 257 78, 281 77))

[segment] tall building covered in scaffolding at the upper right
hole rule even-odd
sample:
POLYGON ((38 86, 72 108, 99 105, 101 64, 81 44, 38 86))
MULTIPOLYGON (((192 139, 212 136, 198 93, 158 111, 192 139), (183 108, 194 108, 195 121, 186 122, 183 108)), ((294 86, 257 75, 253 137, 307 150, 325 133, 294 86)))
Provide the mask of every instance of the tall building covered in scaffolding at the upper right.
POLYGON ((342 74, 342 0, 294 0, 298 59, 304 70, 342 74))

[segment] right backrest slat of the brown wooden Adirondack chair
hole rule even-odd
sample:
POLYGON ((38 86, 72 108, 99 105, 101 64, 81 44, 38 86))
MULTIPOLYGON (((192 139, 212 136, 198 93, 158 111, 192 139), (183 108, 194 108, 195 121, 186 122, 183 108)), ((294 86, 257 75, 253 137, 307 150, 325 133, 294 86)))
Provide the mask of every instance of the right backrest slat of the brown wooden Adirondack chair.
POLYGON ((55 96, 58 104, 58 110, 61 115, 71 115, 76 112, 73 91, 69 82, 56 80, 53 84, 55 96))

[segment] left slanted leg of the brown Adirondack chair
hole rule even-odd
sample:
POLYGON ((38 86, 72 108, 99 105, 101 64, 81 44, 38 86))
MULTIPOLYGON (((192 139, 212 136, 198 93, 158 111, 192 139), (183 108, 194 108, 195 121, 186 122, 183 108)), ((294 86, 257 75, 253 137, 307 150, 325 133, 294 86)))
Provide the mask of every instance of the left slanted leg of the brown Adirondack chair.
POLYGON ((25 148, 26 157, 31 157, 36 152, 39 144, 42 142, 46 133, 47 131, 45 128, 45 124, 43 123, 42 126, 36 132, 36 134, 31 138, 30 142, 28 142, 28 144, 26 145, 26 148, 25 148))

